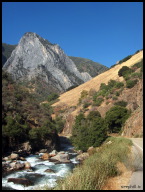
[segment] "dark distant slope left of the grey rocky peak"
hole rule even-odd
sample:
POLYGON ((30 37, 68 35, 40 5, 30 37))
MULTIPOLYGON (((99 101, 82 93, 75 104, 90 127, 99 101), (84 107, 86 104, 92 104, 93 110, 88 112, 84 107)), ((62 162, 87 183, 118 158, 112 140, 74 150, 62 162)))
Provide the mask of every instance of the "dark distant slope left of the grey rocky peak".
POLYGON ((2 66, 11 56, 12 51, 16 48, 17 45, 9 45, 6 43, 2 44, 2 66))

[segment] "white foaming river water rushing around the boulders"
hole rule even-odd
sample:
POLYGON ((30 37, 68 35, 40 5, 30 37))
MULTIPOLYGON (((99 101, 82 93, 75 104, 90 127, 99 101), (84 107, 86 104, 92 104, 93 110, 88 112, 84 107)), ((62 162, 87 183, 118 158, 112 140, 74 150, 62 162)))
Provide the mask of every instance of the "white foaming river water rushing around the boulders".
MULTIPOLYGON (((69 153, 71 163, 55 164, 54 162, 49 162, 49 160, 41 160, 40 156, 43 153, 39 153, 38 155, 31 154, 25 159, 31 164, 32 169, 18 170, 4 176, 2 178, 3 190, 35 190, 38 188, 40 189, 45 185, 48 185, 49 187, 56 186, 57 180, 65 177, 69 172, 72 171, 75 165, 79 163, 79 161, 76 161, 75 159, 77 153, 71 152, 73 146, 70 143, 64 141, 65 140, 63 138, 61 142, 61 151, 69 153), (51 169, 54 172, 45 172, 46 169, 51 169), (26 178, 32 181, 33 185, 24 187, 20 184, 8 182, 8 178, 26 178)), ((24 163, 24 161, 22 163, 24 163)))

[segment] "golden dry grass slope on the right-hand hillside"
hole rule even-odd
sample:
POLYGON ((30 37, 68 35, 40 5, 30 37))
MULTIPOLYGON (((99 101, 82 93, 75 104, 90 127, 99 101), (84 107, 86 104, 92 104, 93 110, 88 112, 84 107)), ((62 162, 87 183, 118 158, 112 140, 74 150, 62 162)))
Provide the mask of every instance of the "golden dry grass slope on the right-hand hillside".
POLYGON ((59 101, 53 104, 52 106, 60 105, 62 103, 67 104, 68 106, 75 106, 78 103, 78 100, 80 98, 81 92, 83 90, 89 91, 91 88, 95 89, 96 91, 99 90, 100 84, 105 83, 107 84, 110 79, 112 80, 118 80, 123 81, 123 77, 118 76, 118 71, 123 66, 132 66, 135 63, 139 62, 143 58, 143 50, 138 52, 137 54, 133 55, 129 60, 126 62, 121 63, 120 65, 116 65, 113 68, 105 71, 104 73, 101 73, 100 75, 96 76, 95 78, 91 79, 90 81, 87 81, 86 83, 63 93, 59 97, 59 101))

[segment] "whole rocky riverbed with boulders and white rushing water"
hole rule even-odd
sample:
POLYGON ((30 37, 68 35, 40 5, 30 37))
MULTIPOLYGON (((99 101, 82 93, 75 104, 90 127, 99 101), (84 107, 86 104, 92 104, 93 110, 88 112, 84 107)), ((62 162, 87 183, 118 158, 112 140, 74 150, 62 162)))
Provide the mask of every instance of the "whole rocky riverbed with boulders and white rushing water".
POLYGON ((59 152, 37 152, 25 154, 25 157, 21 153, 11 153, 3 157, 3 190, 33 190, 46 184, 54 187, 58 179, 65 177, 79 163, 73 146, 65 138, 61 139, 59 152))

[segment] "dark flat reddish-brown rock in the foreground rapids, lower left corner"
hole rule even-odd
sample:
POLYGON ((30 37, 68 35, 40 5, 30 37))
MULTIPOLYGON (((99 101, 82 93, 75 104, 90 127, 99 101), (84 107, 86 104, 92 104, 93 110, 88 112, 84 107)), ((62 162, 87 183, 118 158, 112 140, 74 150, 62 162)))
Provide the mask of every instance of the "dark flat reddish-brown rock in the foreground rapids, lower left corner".
POLYGON ((32 181, 26 178, 8 178, 8 182, 13 182, 14 184, 21 184, 24 186, 33 185, 32 181))

